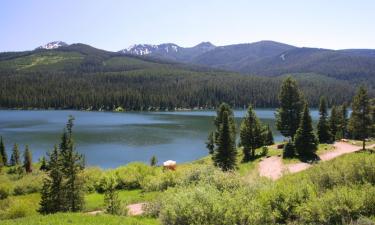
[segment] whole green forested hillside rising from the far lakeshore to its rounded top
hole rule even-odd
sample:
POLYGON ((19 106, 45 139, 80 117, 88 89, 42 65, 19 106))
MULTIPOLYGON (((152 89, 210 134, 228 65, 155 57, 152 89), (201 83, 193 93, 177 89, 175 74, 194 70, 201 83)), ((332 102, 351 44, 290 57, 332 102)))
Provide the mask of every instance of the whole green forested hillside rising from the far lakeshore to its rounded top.
MULTIPOLYGON (((317 74, 295 74, 317 106, 350 101, 355 86, 317 74)), ((2 108, 156 110, 277 106, 282 77, 245 76, 73 44, 53 50, 0 54, 2 108)), ((374 91, 370 90, 370 95, 374 91)))

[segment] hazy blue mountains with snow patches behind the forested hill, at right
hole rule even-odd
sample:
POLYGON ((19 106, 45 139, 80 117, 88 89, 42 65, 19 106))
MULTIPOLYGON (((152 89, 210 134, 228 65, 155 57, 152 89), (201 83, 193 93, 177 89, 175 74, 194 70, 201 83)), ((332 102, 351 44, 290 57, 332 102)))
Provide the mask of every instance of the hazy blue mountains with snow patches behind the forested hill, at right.
POLYGON ((373 49, 301 48, 259 41, 226 46, 202 42, 191 48, 176 44, 134 45, 120 52, 262 76, 318 73, 344 80, 373 79, 375 76, 373 49))

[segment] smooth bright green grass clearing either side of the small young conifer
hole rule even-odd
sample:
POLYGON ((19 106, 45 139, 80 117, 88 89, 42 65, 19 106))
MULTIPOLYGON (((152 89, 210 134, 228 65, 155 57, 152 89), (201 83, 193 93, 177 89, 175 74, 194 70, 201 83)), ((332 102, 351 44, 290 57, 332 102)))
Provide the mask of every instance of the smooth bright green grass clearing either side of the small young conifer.
MULTIPOLYGON (((133 204, 139 202, 148 202, 157 197, 158 192, 142 192, 141 190, 121 190, 119 191, 119 199, 123 204, 133 204)), ((85 196, 86 212, 100 210, 104 208, 104 195, 93 193, 85 196)))

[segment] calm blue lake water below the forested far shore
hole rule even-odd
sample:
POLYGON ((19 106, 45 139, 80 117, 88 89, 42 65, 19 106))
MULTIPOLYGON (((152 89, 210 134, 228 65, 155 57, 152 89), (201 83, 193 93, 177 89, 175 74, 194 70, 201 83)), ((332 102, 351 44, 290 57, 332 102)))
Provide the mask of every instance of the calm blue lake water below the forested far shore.
MULTIPOLYGON (((256 110, 271 126, 276 141, 274 109, 256 110)), ((74 139, 77 151, 85 154, 90 166, 113 168, 133 161, 149 162, 155 155, 159 163, 177 163, 207 155, 205 141, 214 129, 214 111, 186 112, 86 112, 0 110, 0 136, 10 155, 14 143, 20 150, 28 144, 34 161, 59 143, 68 116, 75 117, 74 139)), ((311 111, 313 120, 318 112, 311 111)), ((235 111, 239 123, 245 111, 235 111)))

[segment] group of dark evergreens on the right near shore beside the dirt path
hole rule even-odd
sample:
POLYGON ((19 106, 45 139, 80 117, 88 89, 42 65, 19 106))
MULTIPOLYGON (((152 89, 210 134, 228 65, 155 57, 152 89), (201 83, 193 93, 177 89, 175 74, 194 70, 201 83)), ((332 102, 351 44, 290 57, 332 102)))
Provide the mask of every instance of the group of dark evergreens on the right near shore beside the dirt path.
MULTIPOLYGON (((328 115, 326 98, 322 96, 316 132, 308 101, 294 79, 287 77, 283 81, 278 99, 280 107, 275 115, 276 127, 287 138, 283 148, 284 158, 317 160, 315 152, 319 143, 332 143, 341 138, 359 139, 365 149, 366 139, 375 136, 375 99, 370 99, 364 87, 360 87, 353 98, 350 117, 345 103, 334 105, 328 115)), ((228 104, 220 105, 214 125, 215 131, 209 133, 206 147, 216 166, 224 171, 233 170, 237 163, 236 128, 233 111, 228 104)), ((241 122, 239 137, 238 146, 242 147, 245 162, 256 158, 256 149, 273 144, 271 130, 257 118, 252 106, 249 106, 241 122)))

